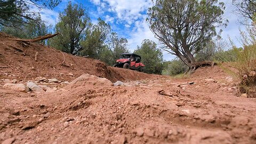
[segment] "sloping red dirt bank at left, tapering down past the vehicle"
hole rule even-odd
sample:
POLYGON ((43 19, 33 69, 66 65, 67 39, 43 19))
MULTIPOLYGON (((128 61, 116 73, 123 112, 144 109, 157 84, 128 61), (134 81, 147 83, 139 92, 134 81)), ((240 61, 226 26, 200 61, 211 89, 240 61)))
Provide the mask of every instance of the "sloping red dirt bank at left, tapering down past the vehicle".
POLYGON ((12 41, 0 33, 0 78, 28 79, 43 76, 69 81, 82 74, 105 77, 111 82, 158 77, 138 71, 108 67, 40 44, 12 41), (72 74, 69 74, 71 71, 72 74))

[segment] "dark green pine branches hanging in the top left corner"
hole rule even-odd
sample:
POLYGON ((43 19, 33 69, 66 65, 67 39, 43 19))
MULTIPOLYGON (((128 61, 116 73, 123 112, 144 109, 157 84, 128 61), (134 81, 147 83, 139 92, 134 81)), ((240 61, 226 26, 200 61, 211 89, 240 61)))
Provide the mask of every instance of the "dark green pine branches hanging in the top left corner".
POLYGON ((60 2, 61 0, 0 0, 0 25, 17 27, 31 21, 39 23, 38 13, 31 12, 31 7, 53 9, 60 2))

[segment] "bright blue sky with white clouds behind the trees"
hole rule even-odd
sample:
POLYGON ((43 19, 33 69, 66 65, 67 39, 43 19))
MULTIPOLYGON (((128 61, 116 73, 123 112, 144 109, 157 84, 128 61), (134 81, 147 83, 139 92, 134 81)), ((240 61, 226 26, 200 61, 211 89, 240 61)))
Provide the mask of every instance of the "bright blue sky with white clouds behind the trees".
MULTIPOLYGON (((55 24, 58 21, 58 12, 63 11, 68 2, 68 0, 62 0, 62 3, 54 10, 41 10, 42 19, 49 24, 55 24)), ((159 43, 146 22, 147 10, 153 5, 151 0, 71 0, 71 2, 83 4, 93 23, 97 23, 99 17, 109 23, 113 31, 127 38, 131 51, 136 49, 137 45, 141 45, 143 39, 151 39, 159 43)), ((231 5, 231 0, 221 0, 221 2, 226 4, 223 17, 229 20, 228 27, 222 28, 222 38, 229 42, 230 37, 236 45, 241 46, 237 39, 239 29, 244 29, 244 27, 238 23, 238 17, 233 14, 234 6, 231 5)), ((167 52, 163 54, 164 60, 175 58, 167 52)))

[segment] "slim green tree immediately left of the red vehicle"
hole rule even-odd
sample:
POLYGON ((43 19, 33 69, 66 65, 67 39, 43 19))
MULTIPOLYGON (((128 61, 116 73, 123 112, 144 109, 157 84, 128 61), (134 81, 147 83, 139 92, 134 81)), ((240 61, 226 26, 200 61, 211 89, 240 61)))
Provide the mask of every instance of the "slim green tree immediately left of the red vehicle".
POLYGON ((111 50, 111 65, 114 65, 116 60, 119 59, 121 53, 129 53, 129 49, 127 47, 127 39, 123 37, 119 37, 117 33, 111 33, 110 38, 108 40, 108 47, 111 50))

